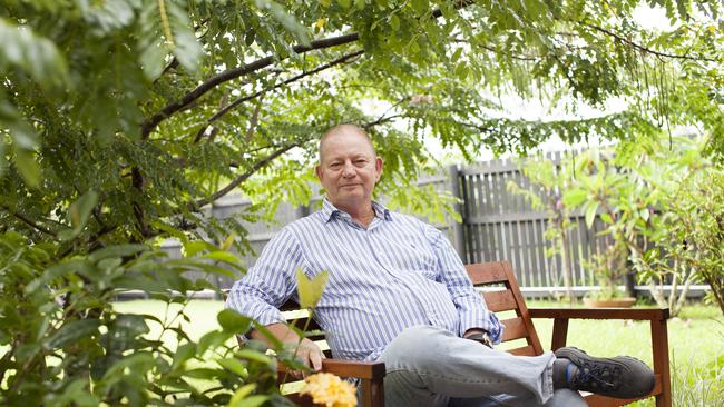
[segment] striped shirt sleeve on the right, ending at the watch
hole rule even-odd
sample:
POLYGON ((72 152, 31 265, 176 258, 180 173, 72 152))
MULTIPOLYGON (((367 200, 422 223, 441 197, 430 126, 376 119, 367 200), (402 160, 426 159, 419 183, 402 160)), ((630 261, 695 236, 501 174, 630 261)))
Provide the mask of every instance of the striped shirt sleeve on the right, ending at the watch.
POLYGON ((439 280, 448 288, 458 309, 458 336, 462 336, 468 329, 481 328, 488 332, 493 344, 499 344, 505 326, 488 310, 482 295, 472 286, 464 265, 450 241, 434 227, 427 225, 427 228, 425 232, 439 261, 439 280))

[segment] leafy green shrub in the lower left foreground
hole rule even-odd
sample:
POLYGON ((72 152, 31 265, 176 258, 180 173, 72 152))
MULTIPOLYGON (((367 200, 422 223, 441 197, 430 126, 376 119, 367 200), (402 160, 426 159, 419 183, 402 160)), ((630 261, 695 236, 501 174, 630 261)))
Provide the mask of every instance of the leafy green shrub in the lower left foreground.
POLYGON ((288 405, 265 348, 239 349, 234 340, 252 324, 248 318, 223 310, 219 328, 194 341, 178 325, 188 319, 183 307, 167 320, 111 307, 119 289, 180 305, 192 290, 215 289, 185 272, 228 274, 209 260, 233 265, 233 256, 203 246, 183 259, 120 245, 57 261, 51 244, 0 235, 0 405, 288 405), (176 345, 149 337, 151 327, 175 336, 176 345))

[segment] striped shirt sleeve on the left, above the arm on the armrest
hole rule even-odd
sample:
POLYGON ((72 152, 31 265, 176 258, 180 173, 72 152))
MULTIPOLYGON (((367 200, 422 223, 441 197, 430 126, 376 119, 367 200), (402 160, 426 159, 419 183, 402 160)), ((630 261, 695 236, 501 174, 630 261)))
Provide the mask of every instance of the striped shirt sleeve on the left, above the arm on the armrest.
POLYGON ((234 282, 225 307, 263 326, 284 322, 278 307, 296 292, 294 270, 302 264, 299 242, 288 228, 282 229, 246 275, 234 282))

